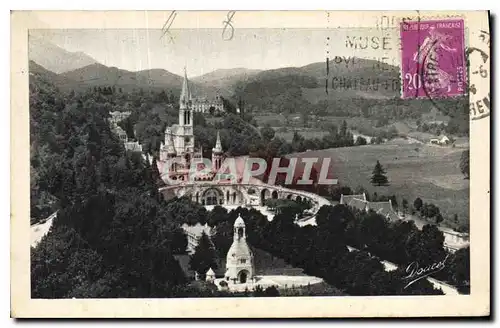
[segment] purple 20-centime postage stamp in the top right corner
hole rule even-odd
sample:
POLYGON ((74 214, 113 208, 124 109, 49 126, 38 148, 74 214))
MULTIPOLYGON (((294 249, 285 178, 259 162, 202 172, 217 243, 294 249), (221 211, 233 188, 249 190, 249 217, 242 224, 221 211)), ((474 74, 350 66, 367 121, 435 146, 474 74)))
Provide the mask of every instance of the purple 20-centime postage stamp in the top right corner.
POLYGON ((401 23, 403 98, 465 94, 463 19, 401 23))

